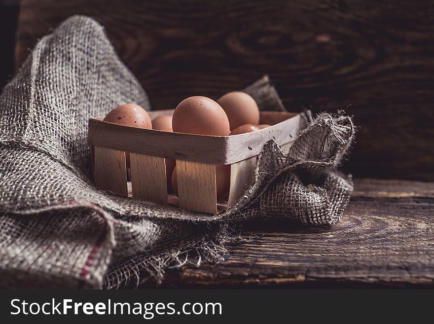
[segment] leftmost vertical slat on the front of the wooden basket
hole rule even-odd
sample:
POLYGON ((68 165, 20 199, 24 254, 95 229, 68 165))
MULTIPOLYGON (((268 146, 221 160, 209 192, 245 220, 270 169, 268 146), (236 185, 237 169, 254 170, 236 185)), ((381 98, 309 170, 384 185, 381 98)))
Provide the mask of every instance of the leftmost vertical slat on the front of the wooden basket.
POLYGON ((125 152, 95 146, 95 186, 128 197, 125 152))

